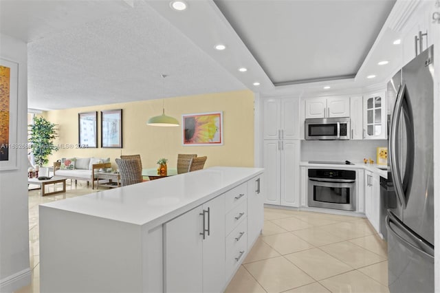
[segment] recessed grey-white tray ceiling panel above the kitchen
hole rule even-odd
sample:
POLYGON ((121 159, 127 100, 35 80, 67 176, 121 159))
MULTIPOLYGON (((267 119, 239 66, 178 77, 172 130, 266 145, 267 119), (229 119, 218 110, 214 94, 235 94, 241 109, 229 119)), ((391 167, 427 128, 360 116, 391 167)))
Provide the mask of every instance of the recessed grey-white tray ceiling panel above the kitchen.
POLYGON ((353 78, 395 0, 214 0, 274 85, 353 78))

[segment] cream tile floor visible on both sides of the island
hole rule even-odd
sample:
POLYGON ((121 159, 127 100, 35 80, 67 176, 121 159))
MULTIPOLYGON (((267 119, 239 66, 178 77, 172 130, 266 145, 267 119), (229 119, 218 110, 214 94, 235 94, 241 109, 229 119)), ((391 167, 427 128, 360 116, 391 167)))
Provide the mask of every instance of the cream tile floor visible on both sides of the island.
MULTIPOLYGON (((32 283, 39 289, 39 204, 95 192, 78 182, 65 193, 29 191, 32 283)), ((225 292, 389 292, 386 242, 360 217, 265 208, 263 235, 225 292)))

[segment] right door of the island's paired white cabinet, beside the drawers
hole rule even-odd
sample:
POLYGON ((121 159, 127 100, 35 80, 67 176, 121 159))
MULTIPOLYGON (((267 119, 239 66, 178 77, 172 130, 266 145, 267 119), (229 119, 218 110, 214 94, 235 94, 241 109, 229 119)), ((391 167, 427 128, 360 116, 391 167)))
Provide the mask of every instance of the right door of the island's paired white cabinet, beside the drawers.
MULTIPOLYGON (((208 229, 202 241, 203 292, 219 292, 225 283, 225 195, 211 199, 202 208, 208 229)), ((188 268, 192 268, 190 263, 185 269, 188 268)))

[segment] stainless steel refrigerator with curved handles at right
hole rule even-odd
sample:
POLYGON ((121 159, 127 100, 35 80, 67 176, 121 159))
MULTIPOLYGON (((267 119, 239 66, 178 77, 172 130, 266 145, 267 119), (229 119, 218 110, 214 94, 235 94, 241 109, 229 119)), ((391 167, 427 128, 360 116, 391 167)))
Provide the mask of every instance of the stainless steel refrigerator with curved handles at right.
POLYGON ((389 155, 396 206, 388 206, 388 288, 434 292, 433 46, 388 83, 396 101, 389 155))

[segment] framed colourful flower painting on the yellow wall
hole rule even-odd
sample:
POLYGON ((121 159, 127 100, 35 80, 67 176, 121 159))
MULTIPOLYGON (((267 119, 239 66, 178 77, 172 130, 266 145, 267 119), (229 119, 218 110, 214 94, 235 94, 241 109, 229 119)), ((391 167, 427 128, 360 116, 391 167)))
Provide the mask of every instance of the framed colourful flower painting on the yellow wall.
POLYGON ((223 145, 223 112, 182 115, 185 146, 223 145))

